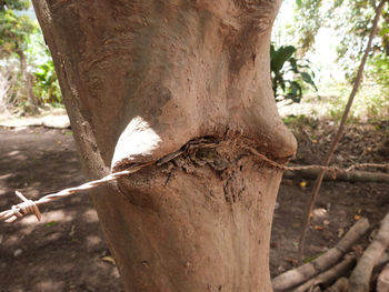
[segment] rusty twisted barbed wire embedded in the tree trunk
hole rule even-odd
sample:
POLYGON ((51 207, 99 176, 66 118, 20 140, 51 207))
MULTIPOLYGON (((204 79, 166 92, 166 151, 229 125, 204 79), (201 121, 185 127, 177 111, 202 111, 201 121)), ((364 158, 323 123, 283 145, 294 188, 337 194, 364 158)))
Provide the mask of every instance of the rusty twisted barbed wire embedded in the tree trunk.
MULTIPOLYGON (((173 153, 170 153, 169 155, 167 155, 158 161, 151 161, 151 162, 146 162, 146 163, 141 163, 141 164, 133 164, 123 171, 118 171, 118 172, 108 174, 107 177, 104 177, 100 180, 89 181, 89 182, 86 182, 79 187, 68 188, 68 189, 61 190, 61 191, 56 192, 56 193, 50 193, 48 195, 40 198, 37 201, 28 200, 21 192, 16 191, 16 195, 22 202, 19 204, 12 205, 11 209, 9 209, 9 210, 2 211, 0 213, 0 221, 4 220, 6 222, 13 222, 17 219, 22 218, 27 214, 34 214, 37 217, 37 220, 40 221, 41 213, 39 211, 38 205, 46 204, 46 203, 49 203, 49 202, 76 194, 76 193, 81 193, 81 192, 84 192, 88 190, 92 190, 99 185, 117 181, 118 179, 123 178, 123 177, 128 177, 129 174, 136 173, 139 170, 141 170, 146 167, 152 165, 152 164, 160 167, 160 165, 180 157, 181 154, 186 153, 188 150, 192 150, 193 147, 199 147, 199 145, 200 145, 200 148, 212 148, 212 147, 216 148, 217 147, 217 144, 215 144, 215 143, 201 144, 202 142, 203 141, 200 141, 199 144, 196 144, 196 143, 189 144, 189 147, 186 147, 183 150, 179 150, 179 151, 176 151, 173 153)), ((316 164, 288 167, 288 165, 280 164, 280 163, 267 158, 265 154, 259 153, 255 148, 251 148, 249 145, 240 145, 240 147, 242 149, 248 150, 255 157, 265 161, 269 165, 277 168, 277 169, 280 169, 280 170, 298 171, 298 170, 320 169, 320 170, 325 170, 325 171, 332 173, 333 177, 336 175, 337 172, 349 172, 349 171, 355 171, 357 169, 363 169, 363 168, 378 168, 378 169, 389 170, 389 163, 386 163, 386 164, 356 163, 347 169, 342 169, 339 167, 323 167, 323 165, 316 165, 316 164)))

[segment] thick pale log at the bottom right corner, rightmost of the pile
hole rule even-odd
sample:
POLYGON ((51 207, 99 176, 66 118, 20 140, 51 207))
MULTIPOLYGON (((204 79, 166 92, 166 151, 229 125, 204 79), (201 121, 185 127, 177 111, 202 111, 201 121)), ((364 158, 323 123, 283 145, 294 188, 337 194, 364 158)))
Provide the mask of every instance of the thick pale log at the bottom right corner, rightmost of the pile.
POLYGON ((353 269, 349 280, 349 291, 368 292, 370 291, 370 276, 372 269, 382 256, 385 250, 389 246, 389 213, 381 221, 381 226, 370 245, 366 249, 362 256, 353 269))

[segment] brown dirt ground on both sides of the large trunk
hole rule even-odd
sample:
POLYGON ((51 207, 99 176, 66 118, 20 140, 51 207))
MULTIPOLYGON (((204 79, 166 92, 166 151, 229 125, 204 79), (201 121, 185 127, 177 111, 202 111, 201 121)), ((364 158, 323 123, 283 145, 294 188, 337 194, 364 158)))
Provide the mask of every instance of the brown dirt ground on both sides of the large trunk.
MULTIPOLYGON (((319 163, 335 125, 298 121, 291 127, 299 141, 292 162, 319 163)), ((388 162, 388 123, 349 127, 335 163, 388 162)), ((82 182, 70 130, 0 128, 0 210, 18 202, 14 190, 38 199, 82 182)), ((301 178, 281 183, 271 239, 272 275, 296 265, 311 184, 301 178)), ((33 215, 12 224, 0 222, 1 292, 123 291, 88 195, 73 195, 40 209, 40 223, 33 215)), ((388 210, 388 183, 325 182, 307 238, 307 259, 331 248, 360 217, 377 226, 388 210)))

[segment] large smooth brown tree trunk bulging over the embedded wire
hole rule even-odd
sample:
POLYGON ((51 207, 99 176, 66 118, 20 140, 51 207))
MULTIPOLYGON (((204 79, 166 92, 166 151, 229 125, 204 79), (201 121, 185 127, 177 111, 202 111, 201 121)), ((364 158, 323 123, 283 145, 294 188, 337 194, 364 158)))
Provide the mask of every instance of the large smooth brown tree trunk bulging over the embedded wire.
POLYGON ((222 142, 92 200, 128 291, 271 291, 268 258, 296 140, 272 97, 280 1, 33 1, 90 178, 222 142))

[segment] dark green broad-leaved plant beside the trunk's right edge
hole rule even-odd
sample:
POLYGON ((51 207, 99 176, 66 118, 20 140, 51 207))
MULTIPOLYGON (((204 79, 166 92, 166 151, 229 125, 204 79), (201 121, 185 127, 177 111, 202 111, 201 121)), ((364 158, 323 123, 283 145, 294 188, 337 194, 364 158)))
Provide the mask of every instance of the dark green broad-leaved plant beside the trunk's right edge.
POLYGON ((317 90, 315 73, 308 61, 295 57, 293 46, 281 46, 278 49, 270 46, 270 70, 275 98, 299 102, 302 98, 303 85, 310 85, 317 90), (280 90, 282 93, 280 93, 280 90))

